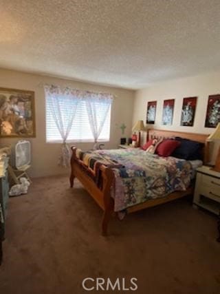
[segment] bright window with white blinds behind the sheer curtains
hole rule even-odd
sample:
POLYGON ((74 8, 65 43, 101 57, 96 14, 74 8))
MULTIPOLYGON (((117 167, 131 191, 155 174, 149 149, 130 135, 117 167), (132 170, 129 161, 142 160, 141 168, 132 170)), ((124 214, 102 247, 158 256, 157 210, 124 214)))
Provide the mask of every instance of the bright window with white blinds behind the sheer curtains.
MULTIPOLYGON (((72 104, 69 99, 65 96, 60 96, 57 98, 59 103, 59 112, 62 117, 62 123, 64 128, 69 122, 69 109, 71 109, 72 104)), ((89 99, 89 98, 87 98, 89 99)), ((46 140, 47 143, 62 143, 63 138, 61 137, 61 132, 58 129, 58 125, 56 123, 56 118, 54 118, 54 114, 51 108, 50 97, 46 96, 46 140)), ((96 107, 96 121, 97 124, 100 125, 104 112, 106 112, 106 108, 102 102, 102 99, 97 99, 95 103, 96 107)), ((109 105, 109 109, 107 110, 107 116, 105 116, 104 125, 102 127, 102 131, 98 136, 98 142, 107 142, 110 137, 110 122, 111 122, 111 104, 109 105)), ((67 136, 66 142, 94 142, 94 134, 91 131, 91 126, 89 122, 89 115, 87 112, 87 105, 85 99, 80 99, 78 101, 76 107, 76 114, 74 115, 74 120, 72 122, 71 128, 69 130, 69 135, 67 136)))

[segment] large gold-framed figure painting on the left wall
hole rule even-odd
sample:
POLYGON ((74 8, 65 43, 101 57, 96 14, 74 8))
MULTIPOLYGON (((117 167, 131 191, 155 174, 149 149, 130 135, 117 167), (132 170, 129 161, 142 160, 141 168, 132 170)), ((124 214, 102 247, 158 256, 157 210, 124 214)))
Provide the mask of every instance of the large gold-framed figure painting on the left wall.
POLYGON ((0 87, 0 138, 35 136, 34 92, 0 87))

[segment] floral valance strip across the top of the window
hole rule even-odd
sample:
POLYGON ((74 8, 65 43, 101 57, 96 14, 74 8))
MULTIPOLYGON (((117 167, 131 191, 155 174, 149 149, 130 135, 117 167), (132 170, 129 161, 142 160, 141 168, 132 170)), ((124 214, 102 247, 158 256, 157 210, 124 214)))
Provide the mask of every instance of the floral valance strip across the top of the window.
POLYGON ((44 85, 44 90, 47 96, 54 95, 71 95, 76 98, 86 99, 86 98, 96 98, 96 99, 112 99, 114 98, 113 94, 102 93, 102 92, 91 92, 85 90, 78 90, 71 87, 60 87, 57 85, 44 85))

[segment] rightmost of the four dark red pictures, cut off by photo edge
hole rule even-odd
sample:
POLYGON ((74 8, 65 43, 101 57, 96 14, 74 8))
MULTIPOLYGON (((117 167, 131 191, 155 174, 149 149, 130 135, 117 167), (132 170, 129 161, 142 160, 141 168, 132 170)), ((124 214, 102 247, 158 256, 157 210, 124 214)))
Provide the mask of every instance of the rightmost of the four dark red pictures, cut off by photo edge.
POLYGON ((220 94, 208 96, 205 127, 216 127, 220 123, 220 94))

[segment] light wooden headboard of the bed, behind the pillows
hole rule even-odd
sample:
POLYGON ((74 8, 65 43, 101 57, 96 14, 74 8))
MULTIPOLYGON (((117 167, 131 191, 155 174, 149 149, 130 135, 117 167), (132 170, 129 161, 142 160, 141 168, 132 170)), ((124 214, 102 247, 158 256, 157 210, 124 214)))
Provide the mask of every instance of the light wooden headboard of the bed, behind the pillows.
POLYGON ((181 137, 189 140, 194 140, 199 143, 203 143, 204 147, 202 150, 203 154, 203 162, 207 162, 208 158, 208 148, 206 148, 206 139, 208 138, 208 134, 196 134, 196 133, 186 133, 186 132, 176 132, 176 131, 167 131, 164 129, 148 129, 147 138, 150 140, 151 138, 172 138, 172 137, 181 137))

